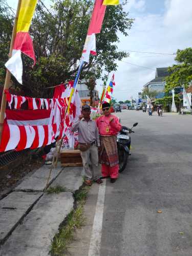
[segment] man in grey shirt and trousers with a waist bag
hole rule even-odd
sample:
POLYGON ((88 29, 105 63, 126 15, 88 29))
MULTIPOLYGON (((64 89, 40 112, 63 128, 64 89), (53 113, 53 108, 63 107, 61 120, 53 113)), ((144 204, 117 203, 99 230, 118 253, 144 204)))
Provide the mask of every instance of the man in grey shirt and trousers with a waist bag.
POLYGON ((94 120, 90 118, 91 108, 90 105, 82 106, 82 115, 79 120, 72 125, 72 131, 78 131, 78 142, 81 147, 82 163, 84 167, 84 174, 86 176, 86 185, 91 186, 92 180, 98 184, 102 183, 99 179, 98 168, 98 148, 100 147, 99 131, 94 120))

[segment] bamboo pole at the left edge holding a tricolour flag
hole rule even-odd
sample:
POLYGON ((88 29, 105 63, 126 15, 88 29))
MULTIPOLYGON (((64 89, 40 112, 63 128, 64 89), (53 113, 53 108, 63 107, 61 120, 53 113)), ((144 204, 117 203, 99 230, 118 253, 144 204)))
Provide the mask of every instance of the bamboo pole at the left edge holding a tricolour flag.
MULTIPOLYGON (((22 0, 18 0, 15 22, 14 22, 14 25, 13 25, 13 32, 12 32, 12 37, 11 37, 11 45, 10 45, 10 49, 9 49, 9 58, 11 58, 11 56, 12 56, 13 44, 14 44, 15 35, 16 35, 16 28, 17 28, 17 20, 18 20, 18 15, 19 15, 19 10, 20 10, 21 3, 22 3, 22 0)), ((5 83, 4 83, 4 90, 9 89, 10 79, 11 79, 11 73, 9 72, 9 70, 7 70, 6 77, 5 77, 5 83)), ((5 92, 3 91, 1 111, 0 111, 0 143, 1 143, 1 140, 2 140, 5 109, 6 109, 6 95, 5 95, 5 92)))

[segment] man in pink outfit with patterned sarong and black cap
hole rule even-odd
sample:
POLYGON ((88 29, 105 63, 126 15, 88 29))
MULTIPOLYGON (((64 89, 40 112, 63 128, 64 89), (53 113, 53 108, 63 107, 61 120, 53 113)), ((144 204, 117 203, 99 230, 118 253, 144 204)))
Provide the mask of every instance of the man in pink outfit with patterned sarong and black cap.
POLYGON ((102 177, 111 177, 111 183, 114 183, 119 174, 119 160, 117 151, 116 135, 121 130, 121 124, 118 117, 110 112, 110 104, 103 103, 103 116, 97 118, 96 123, 100 134, 100 163, 102 177))

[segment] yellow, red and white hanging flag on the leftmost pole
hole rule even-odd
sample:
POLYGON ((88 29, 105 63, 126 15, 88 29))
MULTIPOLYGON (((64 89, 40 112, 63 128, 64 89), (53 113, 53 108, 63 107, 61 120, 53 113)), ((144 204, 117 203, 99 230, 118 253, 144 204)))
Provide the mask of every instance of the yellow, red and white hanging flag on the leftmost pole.
POLYGON ((6 68, 21 84, 23 75, 22 52, 33 59, 33 65, 36 62, 33 42, 29 35, 29 27, 36 4, 37 0, 22 0, 18 14, 12 57, 5 63, 6 68))

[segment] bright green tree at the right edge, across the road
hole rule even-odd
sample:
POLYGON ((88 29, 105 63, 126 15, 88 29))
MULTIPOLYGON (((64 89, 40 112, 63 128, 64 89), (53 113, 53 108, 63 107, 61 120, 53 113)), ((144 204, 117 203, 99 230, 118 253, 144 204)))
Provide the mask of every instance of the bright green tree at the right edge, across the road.
POLYGON ((192 80, 192 48, 177 50, 175 60, 177 65, 169 67, 171 74, 165 78, 165 92, 169 92, 176 87, 184 86, 187 88, 192 80))

